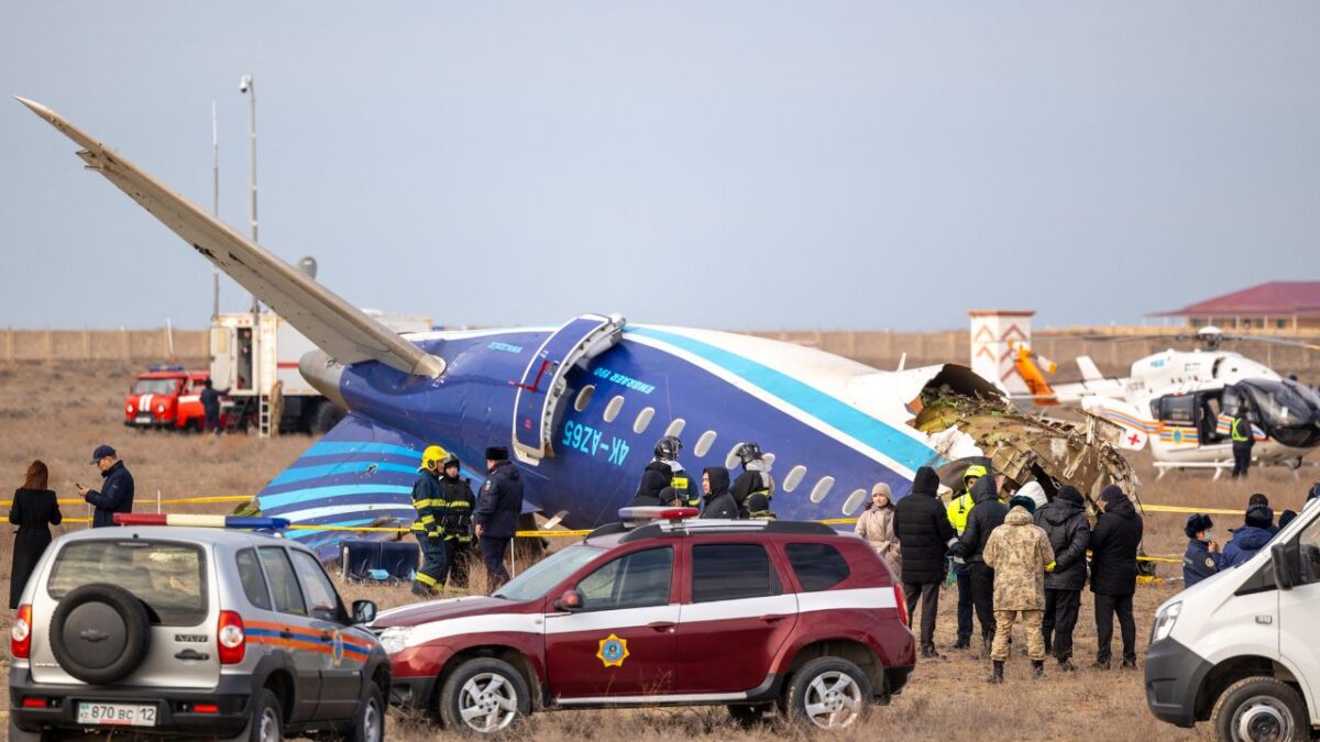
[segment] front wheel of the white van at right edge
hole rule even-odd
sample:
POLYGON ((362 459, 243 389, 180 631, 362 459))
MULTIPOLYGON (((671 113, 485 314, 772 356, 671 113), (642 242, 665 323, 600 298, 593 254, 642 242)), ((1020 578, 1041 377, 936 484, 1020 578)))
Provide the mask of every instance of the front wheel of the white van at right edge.
POLYGON ((1311 735, 1302 697, 1272 677, 1247 677, 1229 685, 1214 702, 1210 729, 1220 739, 1233 742, 1291 742, 1311 735))

